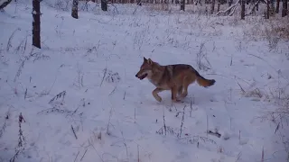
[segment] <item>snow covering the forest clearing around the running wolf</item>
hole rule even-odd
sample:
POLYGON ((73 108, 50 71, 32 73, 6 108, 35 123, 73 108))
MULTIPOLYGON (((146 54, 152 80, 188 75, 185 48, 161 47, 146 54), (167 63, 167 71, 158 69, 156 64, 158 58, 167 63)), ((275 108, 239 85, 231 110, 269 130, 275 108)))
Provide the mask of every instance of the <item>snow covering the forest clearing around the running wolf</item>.
POLYGON ((266 161, 285 161, 275 123, 262 117, 277 109, 269 90, 288 83, 286 42, 269 50, 266 40, 247 40, 252 24, 231 25, 234 17, 89 7, 77 20, 42 3, 42 49, 32 47, 31 4, 11 3, 0 14, 0 161, 15 148, 22 162, 252 162, 263 148, 266 161), (198 55, 207 68, 198 68, 198 55), (190 64, 216 84, 191 85, 183 103, 165 91, 158 103, 154 85, 135 77, 143 57, 190 64), (166 135, 156 133, 163 116, 166 135))

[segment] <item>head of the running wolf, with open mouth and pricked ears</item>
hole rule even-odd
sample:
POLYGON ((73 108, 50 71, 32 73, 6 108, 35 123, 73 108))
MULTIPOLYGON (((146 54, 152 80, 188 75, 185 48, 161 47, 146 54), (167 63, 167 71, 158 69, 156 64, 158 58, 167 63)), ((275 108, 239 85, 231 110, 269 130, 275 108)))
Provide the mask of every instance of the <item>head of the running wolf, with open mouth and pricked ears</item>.
POLYGON ((135 75, 135 77, 143 80, 146 76, 152 76, 153 65, 154 65, 154 61, 152 61, 151 58, 148 58, 148 59, 144 58, 144 62, 142 66, 140 67, 140 70, 135 75))

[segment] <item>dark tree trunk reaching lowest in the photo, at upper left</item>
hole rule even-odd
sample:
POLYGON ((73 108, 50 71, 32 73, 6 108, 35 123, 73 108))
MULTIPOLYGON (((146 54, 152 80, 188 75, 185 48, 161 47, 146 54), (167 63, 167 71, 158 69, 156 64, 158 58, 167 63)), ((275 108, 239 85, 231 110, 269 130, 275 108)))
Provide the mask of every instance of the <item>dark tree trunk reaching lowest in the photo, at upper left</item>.
POLYGON ((33 0, 33 46, 41 49, 40 39, 40 1, 33 0))

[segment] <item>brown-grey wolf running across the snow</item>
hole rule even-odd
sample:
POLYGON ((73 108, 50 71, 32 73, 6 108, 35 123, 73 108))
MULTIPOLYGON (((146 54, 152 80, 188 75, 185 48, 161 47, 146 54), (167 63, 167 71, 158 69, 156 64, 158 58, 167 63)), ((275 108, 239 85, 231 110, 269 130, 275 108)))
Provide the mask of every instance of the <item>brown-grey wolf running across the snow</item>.
POLYGON ((188 86, 195 81, 203 87, 216 83, 215 79, 206 79, 200 76, 198 71, 191 67, 191 65, 173 64, 162 66, 151 58, 144 58, 144 62, 135 77, 140 80, 146 77, 156 86, 152 94, 158 102, 162 102, 162 97, 158 93, 164 90, 171 90, 172 102, 177 103, 187 96, 188 86))

